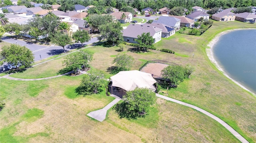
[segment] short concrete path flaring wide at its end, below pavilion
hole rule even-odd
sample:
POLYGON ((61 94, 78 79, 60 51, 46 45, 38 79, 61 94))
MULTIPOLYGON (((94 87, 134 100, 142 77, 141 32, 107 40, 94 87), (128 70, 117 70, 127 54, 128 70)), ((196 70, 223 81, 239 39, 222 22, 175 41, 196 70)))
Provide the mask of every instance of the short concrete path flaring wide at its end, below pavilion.
POLYGON ((104 119, 106 119, 106 114, 107 111, 114 106, 118 101, 120 101, 120 98, 116 98, 115 100, 113 100, 112 102, 110 102, 110 104, 108 104, 107 106, 105 106, 104 108, 100 109, 100 110, 96 110, 96 111, 92 111, 89 114, 87 114, 87 116, 94 118, 100 122, 102 122, 104 119))

